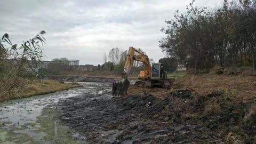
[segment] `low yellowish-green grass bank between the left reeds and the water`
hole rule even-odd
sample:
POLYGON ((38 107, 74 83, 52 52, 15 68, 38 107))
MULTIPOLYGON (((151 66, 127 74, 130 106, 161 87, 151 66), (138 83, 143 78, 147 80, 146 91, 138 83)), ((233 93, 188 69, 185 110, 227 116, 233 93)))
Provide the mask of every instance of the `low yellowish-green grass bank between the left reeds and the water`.
POLYGON ((0 98, 0 102, 58 92, 80 86, 78 83, 63 83, 50 79, 23 79, 22 83, 22 86, 13 89, 0 98))

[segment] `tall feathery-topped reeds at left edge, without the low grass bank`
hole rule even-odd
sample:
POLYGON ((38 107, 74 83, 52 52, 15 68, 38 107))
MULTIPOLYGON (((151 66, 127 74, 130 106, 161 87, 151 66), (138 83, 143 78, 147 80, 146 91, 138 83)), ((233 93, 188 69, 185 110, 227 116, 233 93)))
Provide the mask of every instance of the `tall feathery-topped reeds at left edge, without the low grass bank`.
POLYGON ((44 34, 45 31, 41 31, 20 45, 12 44, 8 34, 0 39, 0 100, 17 97, 19 89, 25 86, 24 79, 36 76, 31 67, 43 57, 44 34))

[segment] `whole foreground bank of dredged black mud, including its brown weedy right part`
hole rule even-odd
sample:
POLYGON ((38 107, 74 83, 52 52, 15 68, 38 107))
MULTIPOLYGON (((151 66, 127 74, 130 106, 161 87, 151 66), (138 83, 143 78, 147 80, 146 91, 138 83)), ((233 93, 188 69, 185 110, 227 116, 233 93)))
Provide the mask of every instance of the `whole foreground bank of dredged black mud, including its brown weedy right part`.
POLYGON ((68 98, 57 107, 62 123, 90 143, 255 142, 255 123, 244 121, 246 106, 223 100, 221 93, 195 98, 189 90, 177 90, 158 99, 107 92, 68 98), (212 109, 207 105, 217 101, 212 109))

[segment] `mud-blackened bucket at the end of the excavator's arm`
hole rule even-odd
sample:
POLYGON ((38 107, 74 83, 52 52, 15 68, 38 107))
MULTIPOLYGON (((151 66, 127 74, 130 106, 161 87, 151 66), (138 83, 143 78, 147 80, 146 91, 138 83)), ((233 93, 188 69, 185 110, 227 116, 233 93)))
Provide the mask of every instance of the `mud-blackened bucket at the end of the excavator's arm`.
POLYGON ((112 94, 113 95, 126 94, 129 86, 130 86, 130 82, 128 81, 127 78, 115 79, 112 85, 112 94))

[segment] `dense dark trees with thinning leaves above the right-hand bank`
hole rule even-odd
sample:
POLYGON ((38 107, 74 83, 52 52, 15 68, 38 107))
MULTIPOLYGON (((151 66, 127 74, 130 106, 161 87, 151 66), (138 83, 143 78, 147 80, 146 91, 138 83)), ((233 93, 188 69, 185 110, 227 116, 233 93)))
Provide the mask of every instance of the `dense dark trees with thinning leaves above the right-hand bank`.
POLYGON ((159 41, 162 51, 187 68, 205 70, 214 65, 255 68, 256 1, 223 1, 208 10, 194 6, 177 10, 167 20, 166 34, 159 41))

